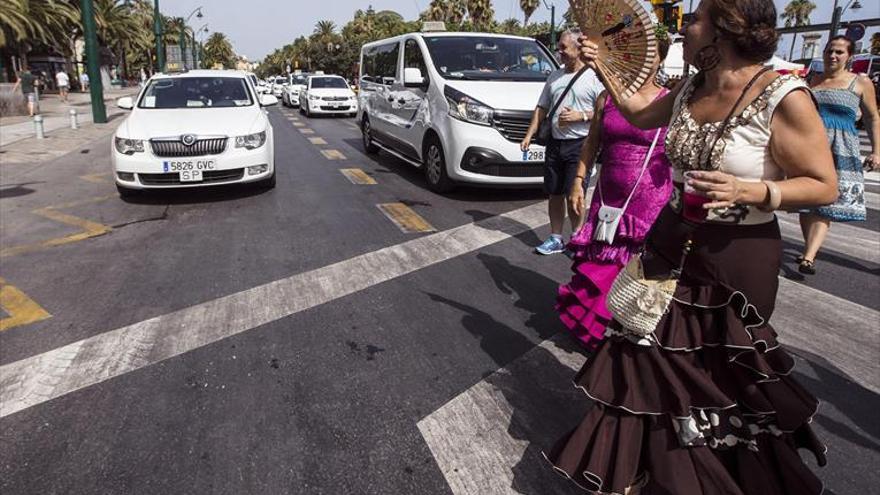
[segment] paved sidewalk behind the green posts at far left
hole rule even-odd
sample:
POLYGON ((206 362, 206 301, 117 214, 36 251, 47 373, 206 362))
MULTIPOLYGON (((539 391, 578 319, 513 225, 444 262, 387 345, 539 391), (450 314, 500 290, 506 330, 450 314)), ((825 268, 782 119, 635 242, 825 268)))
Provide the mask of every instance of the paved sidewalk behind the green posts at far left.
MULTIPOLYGON (((134 95, 138 88, 122 88, 104 90, 104 104, 107 108, 107 117, 124 112, 116 107, 116 99, 122 96, 134 95)), ((89 93, 71 93, 68 103, 61 101, 58 95, 46 95, 40 98, 40 115, 43 116, 43 130, 47 136, 59 129, 70 128, 70 109, 73 108, 78 114, 80 125, 92 122, 92 107, 89 93)), ((0 147, 8 146, 23 139, 34 139, 33 117, 15 116, 0 119, 0 147)))

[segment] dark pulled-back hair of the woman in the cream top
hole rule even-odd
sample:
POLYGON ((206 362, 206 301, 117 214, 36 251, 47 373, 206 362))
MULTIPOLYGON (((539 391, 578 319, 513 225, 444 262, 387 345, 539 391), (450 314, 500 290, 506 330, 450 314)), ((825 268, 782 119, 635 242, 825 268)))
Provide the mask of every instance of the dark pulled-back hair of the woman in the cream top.
POLYGON ((773 0, 711 0, 709 18, 743 58, 763 62, 776 53, 779 33, 773 0))

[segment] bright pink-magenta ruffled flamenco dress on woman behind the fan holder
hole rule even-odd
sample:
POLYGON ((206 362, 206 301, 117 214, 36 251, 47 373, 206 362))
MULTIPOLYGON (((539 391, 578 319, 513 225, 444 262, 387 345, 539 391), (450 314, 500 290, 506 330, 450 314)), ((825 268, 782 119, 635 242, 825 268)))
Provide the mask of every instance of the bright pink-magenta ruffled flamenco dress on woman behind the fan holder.
MULTIPOLYGON (((658 98, 668 91, 663 90, 658 98)), ((599 182, 607 206, 621 207, 632 192, 613 244, 593 241, 601 200, 593 194, 584 226, 571 238, 574 253, 568 284, 559 287, 556 310, 569 332, 588 351, 595 351, 611 322, 605 296, 618 272, 642 247, 651 225, 672 193, 671 165, 666 158, 666 129, 660 130, 654 152, 638 184, 636 181, 657 134, 627 122, 611 98, 602 118, 602 168, 599 182), (635 186, 635 190, 633 187, 635 186)))

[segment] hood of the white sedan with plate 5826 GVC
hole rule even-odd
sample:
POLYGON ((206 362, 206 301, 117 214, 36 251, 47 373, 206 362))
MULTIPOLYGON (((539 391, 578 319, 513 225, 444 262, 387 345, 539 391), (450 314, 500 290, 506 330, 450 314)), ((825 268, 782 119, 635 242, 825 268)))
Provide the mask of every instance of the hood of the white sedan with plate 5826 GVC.
POLYGON ((146 110, 133 112, 117 134, 132 139, 196 134, 200 136, 241 136, 267 127, 262 108, 199 108, 146 110))

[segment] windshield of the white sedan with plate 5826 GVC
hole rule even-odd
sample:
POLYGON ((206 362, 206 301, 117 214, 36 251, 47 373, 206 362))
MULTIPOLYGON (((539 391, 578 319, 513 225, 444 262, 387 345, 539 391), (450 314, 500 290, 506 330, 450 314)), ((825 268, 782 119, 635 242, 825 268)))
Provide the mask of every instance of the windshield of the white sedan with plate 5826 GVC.
POLYGON ((253 103, 243 77, 176 77, 150 82, 138 108, 244 107, 253 103))

